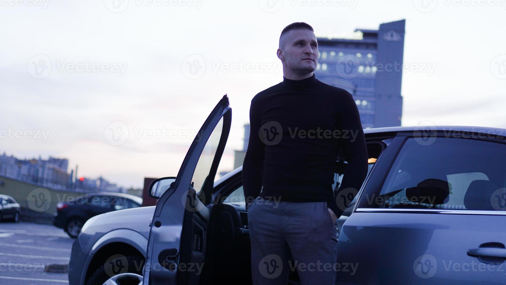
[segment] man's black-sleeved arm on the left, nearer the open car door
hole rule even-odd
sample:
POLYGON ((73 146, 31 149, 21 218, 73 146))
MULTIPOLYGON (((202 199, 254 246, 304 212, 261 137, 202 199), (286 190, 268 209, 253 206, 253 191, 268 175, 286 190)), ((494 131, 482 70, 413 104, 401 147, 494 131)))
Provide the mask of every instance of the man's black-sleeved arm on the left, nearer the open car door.
POLYGON ((248 203, 256 198, 262 189, 262 176, 264 174, 265 144, 260 140, 260 104, 255 96, 249 107, 249 141, 244 162, 242 164, 242 188, 248 203))

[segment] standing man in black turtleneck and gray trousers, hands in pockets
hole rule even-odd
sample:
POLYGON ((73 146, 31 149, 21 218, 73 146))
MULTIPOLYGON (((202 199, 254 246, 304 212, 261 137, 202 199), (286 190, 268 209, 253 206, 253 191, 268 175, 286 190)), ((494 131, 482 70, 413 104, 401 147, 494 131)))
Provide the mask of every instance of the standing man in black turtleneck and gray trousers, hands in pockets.
POLYGON ((286 26, 277 56, 283 82, 251 100, 242 168, 252 280, 286 284, 295 267, 302 284, 333 284, 335 220, 367 175, 360 116, 349 92, 315 78, 318 43, 310 25, 286 26), (334 195, 341 148, 348 166, 334 195))

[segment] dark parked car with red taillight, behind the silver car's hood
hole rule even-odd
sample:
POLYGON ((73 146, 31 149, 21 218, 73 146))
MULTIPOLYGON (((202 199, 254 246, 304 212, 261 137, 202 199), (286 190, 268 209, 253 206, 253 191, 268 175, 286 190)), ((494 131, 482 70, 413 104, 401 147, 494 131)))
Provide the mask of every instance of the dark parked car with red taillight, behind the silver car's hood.
POLYGON ((122 193, 91 193, 56 205, 53 225, 76 238, 82 225, 91 217, 107 212, 141 207, 142 198, 122 193))

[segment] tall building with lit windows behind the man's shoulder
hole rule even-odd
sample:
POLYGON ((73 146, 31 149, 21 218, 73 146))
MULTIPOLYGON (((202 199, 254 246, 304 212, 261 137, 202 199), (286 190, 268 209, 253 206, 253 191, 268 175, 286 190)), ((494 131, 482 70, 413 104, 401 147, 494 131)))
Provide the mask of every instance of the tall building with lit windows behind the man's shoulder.
POLYGON ((356 29, 356 38, 317 38, 316 78, 353 95, 364 129, 401 125, 405 22, 356 29))

